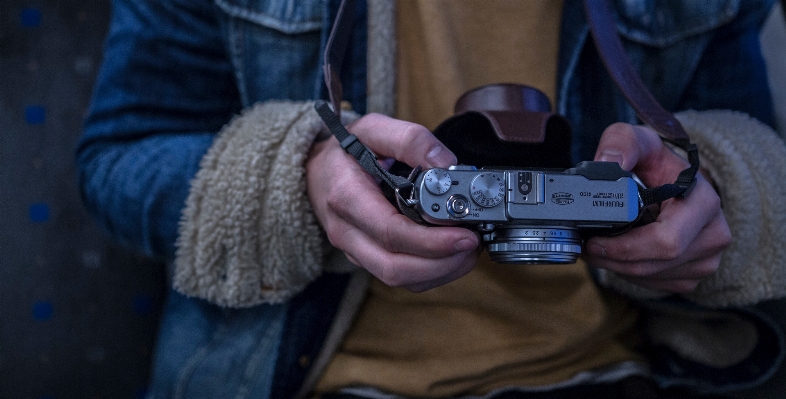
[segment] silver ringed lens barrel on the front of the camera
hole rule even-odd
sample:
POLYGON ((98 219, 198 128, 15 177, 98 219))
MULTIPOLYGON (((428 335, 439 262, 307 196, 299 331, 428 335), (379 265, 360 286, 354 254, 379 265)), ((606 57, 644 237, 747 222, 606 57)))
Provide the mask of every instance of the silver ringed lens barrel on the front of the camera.
POLYGON ((500 226, 483 241, 497 263, 575 263, 581 254, 581 238, 572 227, 500 226))

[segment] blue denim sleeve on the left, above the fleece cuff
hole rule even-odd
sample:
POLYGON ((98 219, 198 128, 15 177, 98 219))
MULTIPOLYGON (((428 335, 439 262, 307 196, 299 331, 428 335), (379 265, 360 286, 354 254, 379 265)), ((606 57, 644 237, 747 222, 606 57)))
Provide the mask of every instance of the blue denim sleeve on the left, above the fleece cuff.
POLYGON ((175 251, 189 181, 240 110, 207 0, 115 0, 84 134, 76 151, 89 212, 123 245, 175 251))

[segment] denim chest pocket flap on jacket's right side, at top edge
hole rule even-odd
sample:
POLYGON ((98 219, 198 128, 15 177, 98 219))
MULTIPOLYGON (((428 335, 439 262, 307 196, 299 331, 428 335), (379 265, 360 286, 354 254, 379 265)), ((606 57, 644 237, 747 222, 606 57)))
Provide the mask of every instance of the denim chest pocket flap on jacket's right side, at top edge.
POLYGON ((740 0, 615 0, 614 3, 620 34, 658 48, 712 31, 733 20, 740 8, 740 0))

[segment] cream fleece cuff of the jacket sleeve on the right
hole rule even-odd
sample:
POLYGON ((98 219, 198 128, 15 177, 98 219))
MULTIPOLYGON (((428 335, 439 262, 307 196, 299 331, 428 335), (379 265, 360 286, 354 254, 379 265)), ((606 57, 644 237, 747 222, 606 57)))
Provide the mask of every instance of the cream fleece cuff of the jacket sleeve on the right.
MULTIPOLYGON (((717 184, 732 243, 717 273, 685 297, 719 308, 786 296, 786 144, 746 114, 686 111, 676 115, 699 147, 702 170, 717 184)), ((640 299, 666 294, 600 270, 600 281, 640 299)))

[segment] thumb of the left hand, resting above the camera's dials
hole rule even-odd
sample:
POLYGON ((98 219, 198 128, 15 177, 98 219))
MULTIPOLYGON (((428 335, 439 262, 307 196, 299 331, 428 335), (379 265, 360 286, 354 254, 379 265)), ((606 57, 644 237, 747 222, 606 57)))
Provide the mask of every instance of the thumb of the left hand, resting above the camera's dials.
POLYGON ((409 166, 446 168, 456 156, 425 127, 369 114, 349 126, 349 131, 378 156, 392 157, 409 166))

